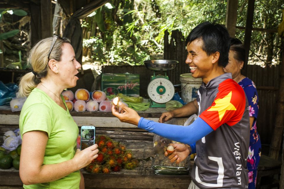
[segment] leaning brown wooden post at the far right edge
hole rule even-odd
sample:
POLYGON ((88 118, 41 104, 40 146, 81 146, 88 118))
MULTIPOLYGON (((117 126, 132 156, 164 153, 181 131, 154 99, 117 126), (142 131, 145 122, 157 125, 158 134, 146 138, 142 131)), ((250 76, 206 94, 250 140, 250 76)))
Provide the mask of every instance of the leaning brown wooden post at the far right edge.
POLYGON ((271 144, 269 148, 269 156, 273 159, 278 159, 281 146, 283 128, 284 128, 284 41, 282 41, 282 61, 280 63, 280 83, 277 100, 277 113, 275 127, 273 129, 271 144))

